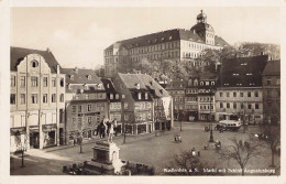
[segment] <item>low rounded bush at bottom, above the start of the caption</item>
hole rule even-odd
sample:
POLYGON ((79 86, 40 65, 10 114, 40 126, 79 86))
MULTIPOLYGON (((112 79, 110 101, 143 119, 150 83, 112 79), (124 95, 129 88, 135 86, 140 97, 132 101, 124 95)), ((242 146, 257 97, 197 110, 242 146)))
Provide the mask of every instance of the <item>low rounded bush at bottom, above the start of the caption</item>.
POLYGON ((218 173, 207 173, 205 169, 215 166, 207 162, 202 162, 198 155, 193 155, 193 151, 186 150, 176 154, 174 160, 166 165, 167 175, 216 175, 218 173), (168 170, 178 170, 177 172, 168 172, 168 170))

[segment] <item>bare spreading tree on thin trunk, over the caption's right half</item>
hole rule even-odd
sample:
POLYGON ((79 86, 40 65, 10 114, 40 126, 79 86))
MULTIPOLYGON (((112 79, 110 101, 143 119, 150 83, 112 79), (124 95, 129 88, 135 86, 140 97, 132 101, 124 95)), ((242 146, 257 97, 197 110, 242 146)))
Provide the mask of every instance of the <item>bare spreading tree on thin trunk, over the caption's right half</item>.
POLYGON ((220 152, 222 158, 233 159, 241 167, 241 175, 244 175, 244 167, 249 160, 260 154, 260 143, 253 139, 238 140, 231 139, 231 145, 220 152))

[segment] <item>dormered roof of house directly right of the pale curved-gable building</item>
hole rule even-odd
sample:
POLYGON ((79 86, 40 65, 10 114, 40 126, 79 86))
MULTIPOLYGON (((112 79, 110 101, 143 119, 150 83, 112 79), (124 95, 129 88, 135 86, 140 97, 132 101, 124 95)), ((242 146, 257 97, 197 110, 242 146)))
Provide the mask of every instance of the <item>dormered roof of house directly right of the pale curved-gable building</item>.
POLYGON ((62 73, 66 74, 66 84, 102 84, 100 77, 92 69, 63 68, 62 73), (91 78, 88 79, 88 76, 91 78))

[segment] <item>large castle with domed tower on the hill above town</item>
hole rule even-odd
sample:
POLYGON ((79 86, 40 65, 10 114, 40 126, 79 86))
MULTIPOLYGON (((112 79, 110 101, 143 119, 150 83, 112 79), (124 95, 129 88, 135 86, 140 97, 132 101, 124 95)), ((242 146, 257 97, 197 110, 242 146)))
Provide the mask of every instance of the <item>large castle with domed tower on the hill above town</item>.
POLYGON ((113 77, 122 63, 148 61, 188 61, 196 65, 194 58, 206 48, 219 50, 230 46, 216 35, 213 28, 207 23, 207 14, 197 15, 197 24, 190 30, 174 29, 129 40, 118 41, 105 50, 105 75, 113 77))

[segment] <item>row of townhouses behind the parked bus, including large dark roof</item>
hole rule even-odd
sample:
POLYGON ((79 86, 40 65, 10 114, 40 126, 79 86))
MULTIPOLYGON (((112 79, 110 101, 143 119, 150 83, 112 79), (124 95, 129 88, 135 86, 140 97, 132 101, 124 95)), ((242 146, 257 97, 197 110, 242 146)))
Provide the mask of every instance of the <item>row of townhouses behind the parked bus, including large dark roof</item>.
POLYGON ((173 80, 166 90, 173 96, 174 112, 184 120, 219 121, 234 115, 250 123, 279 121, 280 61, 263 54, 226 59, 218 77, 173 80))

